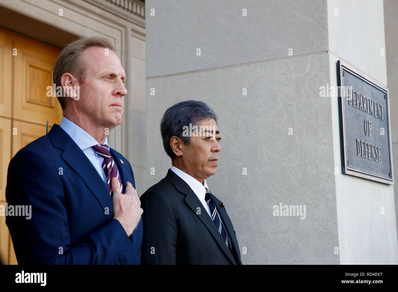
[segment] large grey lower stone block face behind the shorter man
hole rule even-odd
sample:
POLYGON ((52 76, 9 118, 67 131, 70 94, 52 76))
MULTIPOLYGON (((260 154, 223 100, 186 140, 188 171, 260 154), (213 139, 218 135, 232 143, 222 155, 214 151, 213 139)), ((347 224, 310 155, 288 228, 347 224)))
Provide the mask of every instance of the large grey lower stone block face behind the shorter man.
POLYGON ((159 130, 166 108, 177 100, 208 102, 222 137, 208 185, 247 248, 243 263, 338 264, 332 116, 330 99, 319 97, 329 82, 325 68, 328 54, 318 54, 148 79, 147 93, 156 93, 147 96, 148 187, 171 166, 159 130), (279 203, 306 205, 306 219, 273 216, 279 203))

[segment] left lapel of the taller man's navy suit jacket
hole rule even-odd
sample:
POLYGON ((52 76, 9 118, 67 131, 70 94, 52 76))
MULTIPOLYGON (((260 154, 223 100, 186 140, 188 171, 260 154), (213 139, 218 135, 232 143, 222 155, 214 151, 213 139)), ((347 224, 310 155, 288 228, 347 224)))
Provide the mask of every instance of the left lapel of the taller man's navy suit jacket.
POLYGON ((102 178, 98 175, 97 170, 94 168, 90 160, 88 160, 84 152, 57 124, 53 125, 47 135, 49 135, 55 147, 64 151, 61 155, 62 159, 69 164, 80 178, 82 178, 100 203, 104 210, 104 214, 107 213, 105 214, 107 219, 112 220, 113 203, 111 196, 109 195, 108 189, 102 178), (109 208, 109 212, 105 212, 105 208, 109 208))

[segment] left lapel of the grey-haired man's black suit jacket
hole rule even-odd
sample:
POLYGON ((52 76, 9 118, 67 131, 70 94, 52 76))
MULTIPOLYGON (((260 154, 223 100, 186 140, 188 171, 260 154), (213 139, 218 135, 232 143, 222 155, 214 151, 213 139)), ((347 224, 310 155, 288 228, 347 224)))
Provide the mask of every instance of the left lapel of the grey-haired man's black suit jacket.
MULTIPOLYGON (((172 170, 169 169, 166 178, 170 180, 176 186, 177 190, 180 191, 181 193, 185 193, 187 196, 185 197, 185 202, 189 206, 189 208, 197 214, 197 207, 203 207, 201 201, 199 201, 199 198, 197 195, 194 193, 194 191, 189 187, 189 185, 182 179, 180 178, 177 174, 175 174, 172 170)), ((201 208, 203 209, 203 208, 201 208)), ((211 217, 207 214, 206 210, 203 210, 201 214, 197 214, 199 219, 205 224, 207 229, 211 232, 217 243, 219 244, 220 248, 222 251, 224 251, 225 255, 230 259, 231 263, 236 265, 236 261, 226 246, 225 242, 222 240, 222 237, 220 236, 220 232, 215 226, 213 220, 211 220, 211 217)), ((224 221, 223 221, 224 222, 224 221)))

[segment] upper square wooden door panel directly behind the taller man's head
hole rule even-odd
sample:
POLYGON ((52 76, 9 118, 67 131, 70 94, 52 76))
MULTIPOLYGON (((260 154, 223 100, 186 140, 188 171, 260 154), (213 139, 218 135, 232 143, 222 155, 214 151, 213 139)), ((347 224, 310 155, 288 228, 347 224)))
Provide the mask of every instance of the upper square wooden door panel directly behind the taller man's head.
POLYGON ((59 124, 62 109, 56 96, 47 97, 47 86, 53 86, 51 70, 60 50, 18 37, 14 46, 14 118, 59 124))

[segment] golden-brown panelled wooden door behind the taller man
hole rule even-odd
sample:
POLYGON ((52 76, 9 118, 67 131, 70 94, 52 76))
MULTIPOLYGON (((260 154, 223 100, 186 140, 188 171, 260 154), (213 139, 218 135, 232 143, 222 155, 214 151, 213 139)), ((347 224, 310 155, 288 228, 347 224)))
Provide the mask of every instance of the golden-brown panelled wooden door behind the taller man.
MULTIPOLYGON (((60 124, 57 97, 47 96, 52 67, 59 48, 0 29, 0 205, 6 206, 7 169, 25 145, 60 124)), ((3 264, 18 264, 10 232, 0 216, 0 257, 3 264)))

